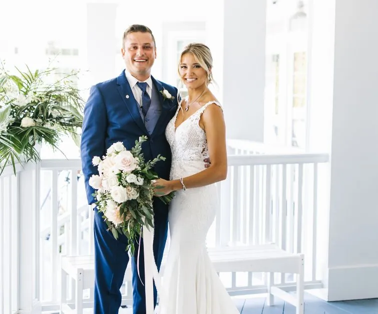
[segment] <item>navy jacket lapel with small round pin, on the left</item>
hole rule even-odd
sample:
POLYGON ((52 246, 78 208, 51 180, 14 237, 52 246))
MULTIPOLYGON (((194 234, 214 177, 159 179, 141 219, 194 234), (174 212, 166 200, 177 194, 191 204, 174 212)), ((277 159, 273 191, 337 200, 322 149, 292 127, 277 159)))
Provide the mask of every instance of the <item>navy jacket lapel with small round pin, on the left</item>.
POLYGON ((131 90, 130 84, 126 79, 125 72, 122 71, 121 75, 117 78, 118 92, 120 93, 123 101, 126 104, 131 116, 133 117, 135 123, 143 130, 145 134, 148 134, 146 126, 143 123, 142 117, 139 113, 138 103, 134 98, 133 91, 131 90), (129 97, 127 97, 129 96, 129 97))

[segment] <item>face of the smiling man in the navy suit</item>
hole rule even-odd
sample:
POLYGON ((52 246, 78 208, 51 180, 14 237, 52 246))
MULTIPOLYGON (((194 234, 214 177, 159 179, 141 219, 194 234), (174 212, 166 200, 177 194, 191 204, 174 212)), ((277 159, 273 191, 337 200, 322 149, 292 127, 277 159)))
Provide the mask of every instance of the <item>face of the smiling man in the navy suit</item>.
POLYGON ((150 33, 128 34, 121 52, 126 68, 131 75, 141 81, 150 76, 152 65, 156 59, 156 47, 150 33))

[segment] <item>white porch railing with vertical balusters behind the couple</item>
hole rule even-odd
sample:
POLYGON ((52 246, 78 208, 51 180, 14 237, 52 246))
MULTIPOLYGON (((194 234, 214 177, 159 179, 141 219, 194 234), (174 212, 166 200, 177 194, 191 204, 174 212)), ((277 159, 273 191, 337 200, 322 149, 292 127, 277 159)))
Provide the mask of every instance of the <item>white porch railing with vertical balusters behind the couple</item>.
MULTIPOLYGON (((305 254, 306 286, 320 287, 316 222, 327 162, 327 154, 229 155, 208 246, 276 242, 305 254)), ((17 177, 7 171, 0 177, 0 312, 56 310, 60 256, 93 252, 93 211, 86 204, 81 163, 43 160, 19 168, 17 177)), ((251 272, 220 276, 232 294, 260 292, 265 280, 251 272)), ((294 282, 290 274, 275 277, 279 286, 294 282)), ((130 284, 124 293, 131 295, 130 284)))

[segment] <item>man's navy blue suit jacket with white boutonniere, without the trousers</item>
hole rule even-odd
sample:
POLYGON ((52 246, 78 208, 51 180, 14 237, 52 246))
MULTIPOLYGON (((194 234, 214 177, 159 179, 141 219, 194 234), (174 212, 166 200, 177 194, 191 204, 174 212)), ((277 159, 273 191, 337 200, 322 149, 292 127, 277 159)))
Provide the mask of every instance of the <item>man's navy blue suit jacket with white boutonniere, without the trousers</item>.
POLYGON ((95 198, 92 196, 94 189, 89 186, 88 181, 92 175, 98 174, 97 167, 92 165, 92 158, 101 158, 117 141, 123 142, 126 149, 131 149, 139 136, 147 135, 148 140, 142 146, 144 158, 148 161, 158 154, 164 156, 166 161, 158 162, 155 171, 160 178, 169 179, 171 149, 165 138, 165 128, 177 109, 177 89, 151 78, 158 91, 166 89, 175 97, 174 100, 168 100, 158 93, 162 113, 151 135, 144 125, 124 71, 117 78, 99 83, 91 89, 84 109, 81 140, 81 159, 89 204, 94 203, 95 198))

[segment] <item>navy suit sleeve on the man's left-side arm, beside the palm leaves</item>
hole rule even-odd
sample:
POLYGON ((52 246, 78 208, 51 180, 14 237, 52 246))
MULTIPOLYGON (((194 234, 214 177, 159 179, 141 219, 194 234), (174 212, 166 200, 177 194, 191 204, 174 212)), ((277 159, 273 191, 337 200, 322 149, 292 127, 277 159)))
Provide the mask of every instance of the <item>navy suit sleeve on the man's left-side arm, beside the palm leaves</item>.
POLYGON ((84 120, 81 137, 81 161, 85 178, 85 189, 88 204, 96 202, 93 189, 89 184, 92 175, 98 175, 97 167, 93 166, 94 156, 102 158, 105 155, 105 139, 107 132, 107 112, 103 97, 97 86, 92 86, 88 101, 84 107, 84 120))

